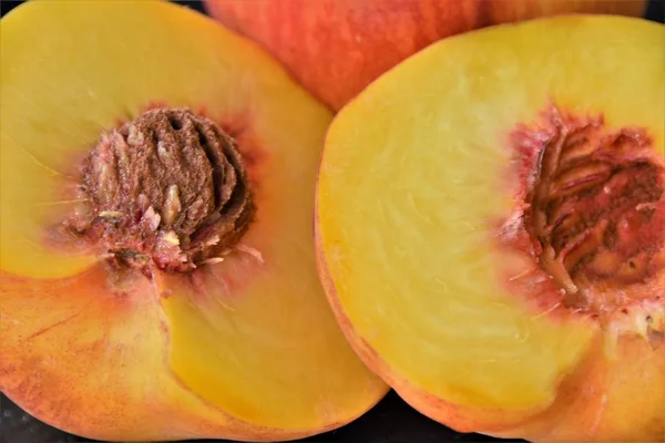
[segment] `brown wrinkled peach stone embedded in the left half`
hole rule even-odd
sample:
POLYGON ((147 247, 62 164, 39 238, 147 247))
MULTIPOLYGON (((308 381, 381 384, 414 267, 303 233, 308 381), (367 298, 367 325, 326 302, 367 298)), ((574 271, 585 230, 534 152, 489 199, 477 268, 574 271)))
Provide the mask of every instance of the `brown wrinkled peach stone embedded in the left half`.
POLYGON ((187 271, 245 234, 255 207, 235 142, 188 110, 146 111, 103 134, 83 163, 86 210, 65 226, 100 255, 187 271))

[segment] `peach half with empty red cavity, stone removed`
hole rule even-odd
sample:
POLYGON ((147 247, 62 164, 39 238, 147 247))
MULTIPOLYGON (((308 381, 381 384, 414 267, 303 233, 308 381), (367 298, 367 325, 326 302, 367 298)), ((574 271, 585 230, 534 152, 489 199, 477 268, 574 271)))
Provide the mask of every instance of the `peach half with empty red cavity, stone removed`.
POLYGON ((452 37, 335 117, 316 245, 338 321, 411 405, 534 442, 665 439, 665 27, 452 37))

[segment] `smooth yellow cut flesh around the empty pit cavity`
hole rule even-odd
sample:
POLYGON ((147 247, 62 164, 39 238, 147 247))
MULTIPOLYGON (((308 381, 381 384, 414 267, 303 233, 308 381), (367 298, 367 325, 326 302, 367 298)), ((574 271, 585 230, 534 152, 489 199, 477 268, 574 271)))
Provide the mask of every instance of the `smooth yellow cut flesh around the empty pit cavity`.
POLYGON ((554 103, 646 127, 663 154, 664 49, 664 28, 635 19, 505 25, 426 49, 338 114, 318 229, 354 333, 396 377, 462 406, 551 404, 595 327, 534 313, 499 278, 509 134, 554 103))

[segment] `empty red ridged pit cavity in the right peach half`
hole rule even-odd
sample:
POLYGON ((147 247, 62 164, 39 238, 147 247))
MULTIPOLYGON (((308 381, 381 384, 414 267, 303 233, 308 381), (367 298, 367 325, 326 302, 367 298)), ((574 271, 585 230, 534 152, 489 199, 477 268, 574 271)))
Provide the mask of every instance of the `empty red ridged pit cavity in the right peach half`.
POLYGON ((513 142, 523 227, 565 306, 602 312, 659 298, 648 285, 665 270, 665 165, 646 132, 553 109, 513 142))

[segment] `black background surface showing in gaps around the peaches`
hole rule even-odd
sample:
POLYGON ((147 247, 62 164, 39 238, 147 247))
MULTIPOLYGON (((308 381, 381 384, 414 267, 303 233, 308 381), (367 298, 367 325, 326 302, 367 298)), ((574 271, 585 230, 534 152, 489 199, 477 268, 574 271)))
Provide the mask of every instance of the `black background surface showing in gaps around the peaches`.
MULTIPOLYGON (((74 1, 74 0, 72 0, 74 1)), ((99 0, 78 0, 99 1, 99 0)), ((311 0, 316 1, 316 0, 311 0)), ((632 0, 624 0, 632 1, 632 0)), ((2 16, 22 1, 0 0, 2 16)), ((177 1, 204 12, 200 1, 177 1)), ((651 0, 646 18, 665 20, 665 0, 651 0)), ((7 44, 8 42, 2 42, 7 44)), ((665 48, 664 48, 665 50, 665 48)), ((0 61, 1 62, 1 61, 0 61)), ((665 86, 664 86, 665 87, 665 86)), ((58 431, 23 412, 3 394, 0 395, 0 443, 92 442, 58 431)), ((222 442, 200 441, 200 442, 222 442)), ((377 406, 346 426, 301 440, 303 443, 443 443, 443 442, 521 442, 498 440, 480 434, 460 434, 442 426, 409 408, 395 392, 377 406)))

